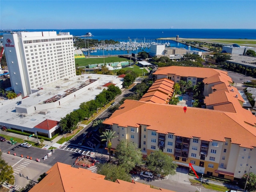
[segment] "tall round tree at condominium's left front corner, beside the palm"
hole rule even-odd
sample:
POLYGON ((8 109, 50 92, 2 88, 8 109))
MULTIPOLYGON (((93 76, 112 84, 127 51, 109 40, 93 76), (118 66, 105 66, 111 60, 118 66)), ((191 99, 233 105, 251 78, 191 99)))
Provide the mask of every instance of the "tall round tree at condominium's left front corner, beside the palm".
POLYGON ((129 140, 121 140, 116 146, 116 159, 118 164, 127 172, 142 162, 142 152, 138 145, 129 140))

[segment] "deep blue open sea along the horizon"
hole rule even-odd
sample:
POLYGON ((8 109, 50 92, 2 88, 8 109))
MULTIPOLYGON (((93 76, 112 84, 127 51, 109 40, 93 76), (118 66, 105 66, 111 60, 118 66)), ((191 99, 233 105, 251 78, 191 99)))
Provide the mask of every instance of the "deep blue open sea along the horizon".
MULTIPOLYGON (((180 38, 226 38, 256 39, 256 29, 26 29, 24 31, 56 31, 70 32, 73 36, 82 36, 86 32, 93 34, 92 39, 98 40, 155 40, 164 37, 180 38)), ((2 33, 0 33, 2 35, 2 33)))

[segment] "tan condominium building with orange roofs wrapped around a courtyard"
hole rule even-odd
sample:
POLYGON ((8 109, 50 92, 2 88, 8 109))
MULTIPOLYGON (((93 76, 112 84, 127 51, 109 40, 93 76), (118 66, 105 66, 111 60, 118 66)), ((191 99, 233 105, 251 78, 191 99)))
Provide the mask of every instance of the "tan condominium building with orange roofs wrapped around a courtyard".
POLYGON ((154 74, 156 83, 165 82, 160 78, 203 82, 206 109, 187 107, 184 112, 183 106, 160 99, 126 100, 104 121, 116 131, 112 148, 120 140, 131 140, 144 156, 162 150, 179 165, 191 163, 197 172, 230 180, 242 178, 250 166, 256 173, 256 117, 242 108, 244 100, 227 72, 171 66, 154 74))

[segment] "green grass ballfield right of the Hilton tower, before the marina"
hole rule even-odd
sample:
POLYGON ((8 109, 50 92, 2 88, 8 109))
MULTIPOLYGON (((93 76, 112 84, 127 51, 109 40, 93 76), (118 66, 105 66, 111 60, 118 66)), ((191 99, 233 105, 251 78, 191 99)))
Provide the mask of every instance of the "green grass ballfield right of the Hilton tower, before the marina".
MULTIPOLYGON (((120 62, 120 61, 130 62, 130 60, 125 58, 105 57, 105 63, 120 62)), ((78 64, 78 66, 87 66, 88 64, 104 63, 104 58, 78 58, 78 59, 75 59, 75 63, 78 64)))

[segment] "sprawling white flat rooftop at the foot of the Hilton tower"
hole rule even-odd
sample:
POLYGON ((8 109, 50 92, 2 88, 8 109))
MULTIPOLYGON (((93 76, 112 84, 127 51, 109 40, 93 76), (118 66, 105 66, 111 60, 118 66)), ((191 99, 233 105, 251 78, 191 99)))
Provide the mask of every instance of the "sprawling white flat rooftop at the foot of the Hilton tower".
POLYGON ((40 102, 43 102, 44 100, 56 95, 56 94, 62 94, 65 90, 68 90, 72 87, 77 87, 82 82, 85 82, 86 80, 89 80, 88 76, 91 76, 90 79, 98 80, 98 85, 93 87, 91 90, 86 90, 82 94, 76 95, 75 98, 72 98, 65 102, 64 104, 61 104, 60 106, 52 109, 47 109, 49 112, 48 114, 39 114, 39 111, 35 111, 32 114, 29 114, 26 117, 20 116, 19 113, 16 113, 15 107, 18 105, 18 101, 21 100, 14 100, 14 102, 10 104, 2 105, 0 108, 1 113, 1 119, 0 124, 4 126, 4 124, 12 124, 13 128, 16 128, 15 126, 23 126, 28 128, 33 128, 40 122, 50 119, 50 120, 56 120, 60 121, 61 118, 65 117, 66 114, 77 110, 82 102, 87 102, 90 100, 95 99, 95 96, 100 94, 103 89, 97 89, 98 86, 103 86, 104 84, 108 82, 112 82, 114 84, 122 84, 123 78, 117 78, 117 76, 111 76, 111 75, 100 75, 100 74, 83 74, 81 76, 76 76, 75 78, 69 79, 69 80, 58 80, 56 82, 47 84, 42 86, 42 90, 39 90, 36 93, 31 94, 28 98, 22 99, 22 104, 20 106, 24 105, 26 106, 32 106, 35 104, 38 104, 40 102), (83 78, 81 78, 81 76, 83 78), (80 78, 80 80, 78 79, 80 78), (60 88, 56 88, 56 86, 60 86, 60 88), (40 93, 40 95, 38 95, 40 93))

